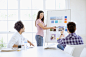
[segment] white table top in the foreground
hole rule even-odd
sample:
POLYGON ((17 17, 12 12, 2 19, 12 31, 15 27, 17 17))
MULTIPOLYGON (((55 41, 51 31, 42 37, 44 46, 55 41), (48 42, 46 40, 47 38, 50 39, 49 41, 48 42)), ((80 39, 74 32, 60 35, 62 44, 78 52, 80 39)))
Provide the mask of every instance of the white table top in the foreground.
POLYGON ((0 57, 72 57, 69 54, 57 49, 44 49, 43 47, 34 47, 22 51, 0 52, 0 57))

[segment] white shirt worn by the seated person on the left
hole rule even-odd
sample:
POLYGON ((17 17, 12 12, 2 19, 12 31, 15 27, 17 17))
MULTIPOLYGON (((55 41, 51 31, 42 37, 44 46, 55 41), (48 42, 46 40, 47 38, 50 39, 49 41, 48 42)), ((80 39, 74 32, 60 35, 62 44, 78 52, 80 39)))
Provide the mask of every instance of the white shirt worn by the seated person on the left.
POLYGON ((8 48, 13 48, 13 45, 14 45, 14 44, 15 44, 15 45, 23 45, 23 42, 24 42, 24 41, 27 41, 27 39, 25 39, 25 38, 22 36, 22 34, 19 34, 19 32, 16 32, 16 33, 12 36, 12 38, 11 38, 11 40, 9 41, 7 47, 8 47, 8 48))

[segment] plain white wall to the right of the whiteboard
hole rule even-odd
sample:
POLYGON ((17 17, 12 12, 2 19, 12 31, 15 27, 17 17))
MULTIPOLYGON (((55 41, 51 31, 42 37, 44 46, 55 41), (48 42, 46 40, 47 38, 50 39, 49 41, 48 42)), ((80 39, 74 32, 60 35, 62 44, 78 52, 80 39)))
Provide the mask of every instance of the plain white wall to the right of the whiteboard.
POLYGON ((86 44, 86 0, 66 0, 67 9, 71 9, 71 20, 76 22, 77 31, 86 44))

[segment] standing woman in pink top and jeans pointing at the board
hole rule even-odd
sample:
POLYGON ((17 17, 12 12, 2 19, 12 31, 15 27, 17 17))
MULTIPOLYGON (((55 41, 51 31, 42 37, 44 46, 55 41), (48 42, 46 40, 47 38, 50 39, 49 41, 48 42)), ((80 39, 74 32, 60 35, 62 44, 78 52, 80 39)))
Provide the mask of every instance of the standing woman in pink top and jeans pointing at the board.
POLYGON ((35 26, 37 27, 37 33, 35 36, 37 46, 43 46, 43 37, 44 37, 43 30, 56 29, 56 28, 55 27, 47 27, 47 25, 44 24, 44 12, 43 11, 38 12, 37 18, 35 21, 35 26))

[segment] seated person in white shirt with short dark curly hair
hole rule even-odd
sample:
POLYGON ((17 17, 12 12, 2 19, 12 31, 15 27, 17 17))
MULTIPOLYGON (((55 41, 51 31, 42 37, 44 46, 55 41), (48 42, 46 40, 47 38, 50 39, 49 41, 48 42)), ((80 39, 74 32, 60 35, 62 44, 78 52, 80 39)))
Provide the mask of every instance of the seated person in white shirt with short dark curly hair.
POLYGON ((21 48, 22 46, 24 46, 23 41, 27 41, 30 46, 34 46, 29 40, 25 39, 22 36, 22 33, 24 32, 25 28, 21 21, 16 22, 14 28, 17 30, 17 32, 12 36, 11 40, 9 41, 7 45, 8 48, 21 48))

